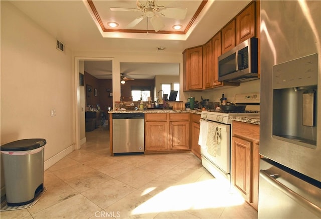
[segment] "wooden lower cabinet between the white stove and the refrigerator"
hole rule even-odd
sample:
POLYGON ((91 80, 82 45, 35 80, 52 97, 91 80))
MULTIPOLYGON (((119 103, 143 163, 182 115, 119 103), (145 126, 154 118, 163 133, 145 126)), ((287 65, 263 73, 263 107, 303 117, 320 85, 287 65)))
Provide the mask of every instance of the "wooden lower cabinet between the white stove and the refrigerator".
POLYGON ((232 122, 231 183, 258 209, 259 125, 232 122))

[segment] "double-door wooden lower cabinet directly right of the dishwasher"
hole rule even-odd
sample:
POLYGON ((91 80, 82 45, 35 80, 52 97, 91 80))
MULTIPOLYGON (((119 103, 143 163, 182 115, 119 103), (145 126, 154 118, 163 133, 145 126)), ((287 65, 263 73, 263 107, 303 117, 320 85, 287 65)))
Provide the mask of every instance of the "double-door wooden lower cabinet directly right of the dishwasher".
POLYGON ((145 152, 190 150, 189 113, 146 113, 145 152))

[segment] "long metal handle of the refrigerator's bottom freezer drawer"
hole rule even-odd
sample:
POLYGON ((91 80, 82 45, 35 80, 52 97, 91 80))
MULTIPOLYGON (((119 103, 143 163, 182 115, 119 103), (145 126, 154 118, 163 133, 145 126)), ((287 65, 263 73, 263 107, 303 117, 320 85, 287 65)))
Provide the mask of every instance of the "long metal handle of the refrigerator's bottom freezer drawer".
POLYGON ((284 194, 292 198, 297 203, 301 204, 305 208, 309 209, 311 212, 313 212, 315 215, 320 216, 321 215, 321 208, 313 204, 312 202, 308 201, 301 195, 295 193, 293 190, 289 189, 279 181, 277 181, 273 176, 278 174, 269 174, 265 170, 260 170, 260 176, 265 179, 267 182, 269 182, 271 185, 276 187, 278 190, 282 191, 284 194))

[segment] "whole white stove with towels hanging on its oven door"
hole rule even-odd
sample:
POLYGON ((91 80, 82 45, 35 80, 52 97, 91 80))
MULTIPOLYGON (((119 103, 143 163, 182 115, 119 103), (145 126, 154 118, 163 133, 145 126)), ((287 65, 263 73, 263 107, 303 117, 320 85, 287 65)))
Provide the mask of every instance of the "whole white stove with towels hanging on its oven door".
POLYGON ((228 182, 230 182, 231 165, 230 118, 234 116, 259 116, 260 94, 236 94, 232 103, 246 105, 245 111, 202 111, 199 135, 202 165, 216 178, 219 177, 228 182), (215 141, 212 141, 213 139, 215 141))

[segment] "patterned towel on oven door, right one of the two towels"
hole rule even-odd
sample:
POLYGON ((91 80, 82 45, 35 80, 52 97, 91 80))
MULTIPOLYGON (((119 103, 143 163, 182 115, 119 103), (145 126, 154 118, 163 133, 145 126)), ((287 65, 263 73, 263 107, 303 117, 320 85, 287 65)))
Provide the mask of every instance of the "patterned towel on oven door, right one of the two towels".
POLYGON ((217 124, 211 123, 209 125, 206 146, 207 152, 216 157, 217 145, 221 142, 221 129, 217 127, 217 124))

